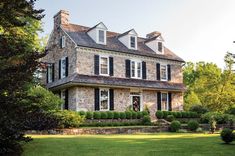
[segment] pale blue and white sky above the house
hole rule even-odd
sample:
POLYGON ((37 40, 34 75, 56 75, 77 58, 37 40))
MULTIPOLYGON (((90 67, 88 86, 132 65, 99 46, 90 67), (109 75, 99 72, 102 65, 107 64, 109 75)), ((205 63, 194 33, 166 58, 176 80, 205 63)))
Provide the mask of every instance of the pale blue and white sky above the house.
POLYGON ((42 36, 51 33, 53 16, 67 10, 73 24, 103 22, 119 33, 134 28, 140 37, 160 31, 165 46, 186 62, 224 68, 226 52, 235 53, 235 0, 38 0, 36 8, 45 9, 42 36))

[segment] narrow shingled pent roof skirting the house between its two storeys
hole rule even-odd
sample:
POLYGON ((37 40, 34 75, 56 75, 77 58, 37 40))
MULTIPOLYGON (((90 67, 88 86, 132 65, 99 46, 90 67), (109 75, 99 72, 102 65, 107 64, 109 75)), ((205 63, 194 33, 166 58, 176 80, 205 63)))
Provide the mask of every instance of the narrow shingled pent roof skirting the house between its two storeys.
POLYGON ((82 85, 108 85, 114 87, 138 87, 138 88, 149 88, 156 90, 173 90, 173 91, 184 91, 186 88, 183 83, 172 83, 166 81, 150 81, 143 79, 128 79, 128 78, 117 78, 107 76, 92 76, 92 75, 81 75, 73 74, 67 78, 61 79, 54 83, 49 83, 48 88, 54 88, 64 84, 82 84, 82 85))

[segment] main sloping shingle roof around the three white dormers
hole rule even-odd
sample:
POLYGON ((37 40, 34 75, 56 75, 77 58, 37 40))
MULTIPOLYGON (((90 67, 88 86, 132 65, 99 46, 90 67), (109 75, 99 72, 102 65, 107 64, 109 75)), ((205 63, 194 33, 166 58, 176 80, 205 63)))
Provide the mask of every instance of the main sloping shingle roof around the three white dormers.
POLYGON ((118 36, 121 34, 116 32, 107 31, 107 44, 102 45, 95 43, 95 41, 93 41, 87 34, 87 31, 90 29, 89 27, 75 24, 62 25, 61 27, 75 41, 78 46, 184 62, 182 58, 174 54, 166 47, 164 48, 164 55, 156 54, 156 52, 145 45, 144 42, 148 40, 146 38, 138 37, 138 50, 131 50, 118 40, 118 36))

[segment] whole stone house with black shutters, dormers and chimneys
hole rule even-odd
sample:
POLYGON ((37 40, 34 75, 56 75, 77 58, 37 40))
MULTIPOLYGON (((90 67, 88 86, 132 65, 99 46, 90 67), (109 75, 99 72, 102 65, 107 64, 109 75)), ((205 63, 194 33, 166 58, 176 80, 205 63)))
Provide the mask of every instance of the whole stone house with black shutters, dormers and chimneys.
POLYGON ((164 46, 160 32, 146 38, 134 29, 108 31, 104 23, 69 23, 68 11, 54 16, 43 82, 74 111, 182 110, 184 60, 164 46))

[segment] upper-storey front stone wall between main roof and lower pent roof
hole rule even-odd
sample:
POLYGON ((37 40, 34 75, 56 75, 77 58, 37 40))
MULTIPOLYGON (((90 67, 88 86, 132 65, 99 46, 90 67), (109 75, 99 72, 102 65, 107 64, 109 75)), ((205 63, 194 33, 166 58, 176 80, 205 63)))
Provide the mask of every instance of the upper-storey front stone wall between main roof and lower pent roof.
POLYGON ((159 60, 149 57, 140 57, 135 55, 115 54, 106 51, 88 50, 84 48, 77 48, 77 68, 79 74, 94 75, 94 55, 112 56, 114 59, 114 77, 126 78, 126 59, 135 59, 146 62, 147 80, 156 80, 156 63, 171 64, 171 82, 182 83, 183 75, 181 71, 181 64, 175 61, 159 60))

